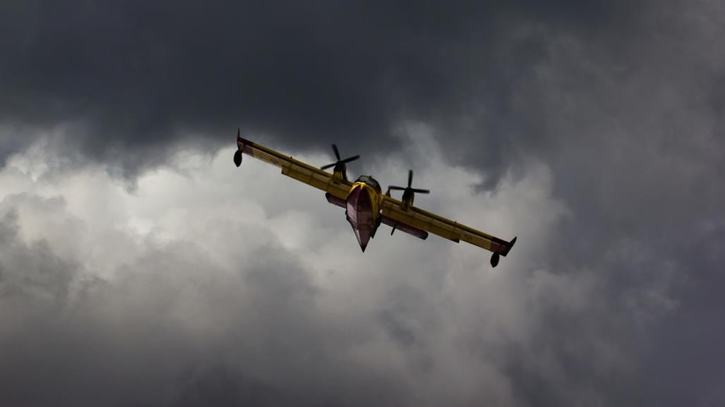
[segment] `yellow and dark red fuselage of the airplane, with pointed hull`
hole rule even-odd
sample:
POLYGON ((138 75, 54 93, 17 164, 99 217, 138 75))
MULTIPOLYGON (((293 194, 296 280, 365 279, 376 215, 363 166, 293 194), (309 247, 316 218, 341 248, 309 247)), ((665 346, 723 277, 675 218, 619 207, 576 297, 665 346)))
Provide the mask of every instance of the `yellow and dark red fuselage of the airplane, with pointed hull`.
POLYGON ((363 251, 381 223, 381 193, 375 178, 362 175, 352 184, 347 195, 345 215, 363 251))

